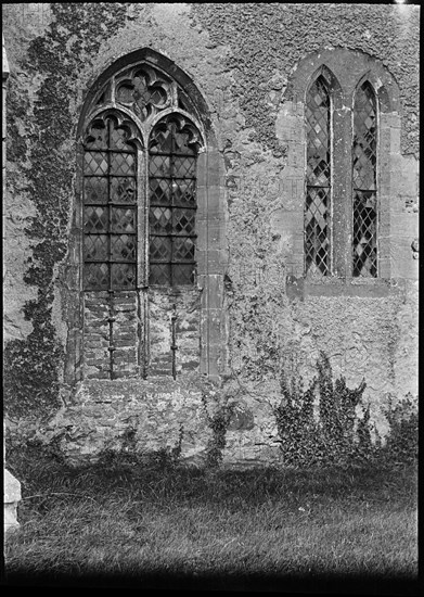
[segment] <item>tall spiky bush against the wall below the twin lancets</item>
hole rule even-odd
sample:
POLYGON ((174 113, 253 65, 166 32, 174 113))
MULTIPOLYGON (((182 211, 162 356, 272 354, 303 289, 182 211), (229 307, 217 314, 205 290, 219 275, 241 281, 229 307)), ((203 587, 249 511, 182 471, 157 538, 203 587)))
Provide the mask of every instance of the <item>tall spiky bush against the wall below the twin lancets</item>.
POLYGON ((362 404, 365 382, 350 390, 344 377, 333 380, 323 352, 317 371, 306 390, 300 377, 288 379, 284 369, 281 372, 282 399, 274 415, 284 465, 346 463, 370 457, 370 412, 362 404))

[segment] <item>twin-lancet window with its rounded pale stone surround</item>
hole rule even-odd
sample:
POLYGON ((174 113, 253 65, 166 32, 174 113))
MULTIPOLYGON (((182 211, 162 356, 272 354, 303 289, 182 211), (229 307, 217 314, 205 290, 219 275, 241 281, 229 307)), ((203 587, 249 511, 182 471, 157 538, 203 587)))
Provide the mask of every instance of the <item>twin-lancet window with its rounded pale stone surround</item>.
POLYGON ((308 276, 316 272, 317 279, 311 280, 314 284, 319 283, 318 278, 323 275, 341 280, 365 275, 387 278, 393 267, 390 180, 394 167, 396 169, 394 164, 400 142, 399 87, 383 62, 374 56, 346 48, 321 48, 297 63, 287 84, 284 99, 293 119, 300 120, 303 112, 308 115, 307 98, 318 80, 325 89, 331 90, 330 187, 326 185, 331 190, 331 219, 327 219, 326 193, 318 190, 318 185, 310 180, 311 172, 318 176, 321 174, 313 169, 322 160, 318 156, 313 163, 308 155, 308 150, 312 153, 313 139, 310 135, 308 138, 307 117, 304 117, 305 125, 300 134, 300 142, 305 148, 301 154, 304 161, 298 160, 296 140, 288 139, 288 158, 293 152, 293 169, 296 176, 301 176, 304 180, 303 201, 296 204, 296 209, 299 217, 300 211, 303 212, 305 226, 301 232, 295 236, 295 244, 303 246, 303 251, 296 252, 293 256, 293 266, 301 267, 308 276), (362 189, 367 191, 367 202, 363 194, 361 202, 359 194, 355 196, 354 189, 358 192, 361 190, 360 182, 354 181, 361 162, 355 158, 358 166, 355 169, 352 164, 354 145, 355 151, 360 152, 360 144, 356 141, 354 143, 355 103, 358 100, 358 90, 363 85, 373 89, 371 97, 375 98, 375 123, 367 131, 367 137, 373 139, 371 147, 375 147, 375 152, 368 147, 367 151, 372 152, 373 157, 367 157, 365 152, 363 156, 367 157, 367 167, 373 174, 376 189, 372 193, 371 189, 362 189), (361 221, 361 218, 364 221, 361 221), (323 244, 330 246, 330 268, 325 263, 327 254, 323 244), (365 251, 362 251, 362 247, 365 251), (322 258, 319 257, 320 251, 322 258), (361 258, 359 253, 362 255, 361 258))

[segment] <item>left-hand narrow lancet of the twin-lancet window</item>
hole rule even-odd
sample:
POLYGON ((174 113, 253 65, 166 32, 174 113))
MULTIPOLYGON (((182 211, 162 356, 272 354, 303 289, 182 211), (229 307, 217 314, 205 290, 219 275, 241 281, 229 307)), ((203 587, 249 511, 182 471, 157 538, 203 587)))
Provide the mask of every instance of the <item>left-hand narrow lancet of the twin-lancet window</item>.
POLYGON ((331 268, 331 96, 322 74, 307 93, 306 131, 306 271, 316 269, 327 275, 331 268))

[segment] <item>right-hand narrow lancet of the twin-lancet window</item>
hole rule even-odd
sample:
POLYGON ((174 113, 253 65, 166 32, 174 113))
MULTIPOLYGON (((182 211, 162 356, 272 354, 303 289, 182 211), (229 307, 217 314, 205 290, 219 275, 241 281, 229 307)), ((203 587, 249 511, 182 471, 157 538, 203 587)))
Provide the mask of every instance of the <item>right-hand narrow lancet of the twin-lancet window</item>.
POLYGON ((377 150, 376 99, 365 81, 357 90, 354 107, 354 277, 377 276, 377 150))

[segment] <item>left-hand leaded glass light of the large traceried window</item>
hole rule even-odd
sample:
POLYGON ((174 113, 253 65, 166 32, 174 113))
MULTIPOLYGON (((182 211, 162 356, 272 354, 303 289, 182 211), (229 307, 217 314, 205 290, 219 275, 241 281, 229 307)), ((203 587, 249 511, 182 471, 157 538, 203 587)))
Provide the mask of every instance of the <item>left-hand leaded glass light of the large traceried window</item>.
POLYGON ((85 143, 83 288, 136 288, 136 149, 113 118, 95 120, 85 143))

